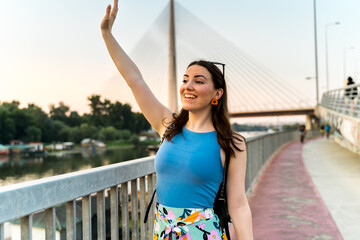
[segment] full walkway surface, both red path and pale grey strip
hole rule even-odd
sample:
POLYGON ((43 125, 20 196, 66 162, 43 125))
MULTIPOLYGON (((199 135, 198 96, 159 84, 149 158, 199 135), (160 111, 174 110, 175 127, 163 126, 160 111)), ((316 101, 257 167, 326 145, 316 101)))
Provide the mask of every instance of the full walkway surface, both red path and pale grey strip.
POLYGON ((360 239, 360 157, 318 138, 268 163, 249 203, 255 239, 360 239))

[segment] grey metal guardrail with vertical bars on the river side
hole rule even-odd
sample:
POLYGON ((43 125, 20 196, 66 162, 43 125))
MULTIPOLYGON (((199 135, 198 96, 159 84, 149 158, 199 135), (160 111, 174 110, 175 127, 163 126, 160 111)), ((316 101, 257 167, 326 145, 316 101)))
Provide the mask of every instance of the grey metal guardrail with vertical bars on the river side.
MULTIPOLYGON (((310 131, 308 136, 316 134, 310 131)), ((248 139, 247 193, 276 150, 298 139, 296 131, 248 139)), ((20 220, 21 239, 32 239, 33 218, 40 214, 45 215, 44 239, 56 239, 56 235, 60 239, 92 239, 95 235, 104 240, 119 239, 119 235, 124 240, 151 239, 154 216, 149 214, 147 224, 142 219, 155 189, 154 159, 146 157, 1 187, 0 240, 5 240, 5 223, 14 220, 20 220), (57 218, 61 207, 66 213, 64 224, 57 218)))

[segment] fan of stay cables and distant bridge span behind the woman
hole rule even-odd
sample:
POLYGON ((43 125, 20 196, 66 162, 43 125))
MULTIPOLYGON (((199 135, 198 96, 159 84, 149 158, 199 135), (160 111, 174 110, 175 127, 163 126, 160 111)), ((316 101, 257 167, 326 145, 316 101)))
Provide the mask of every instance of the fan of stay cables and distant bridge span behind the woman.
MULTIPOLYGON (((129 54, 164 104, 168 98, 179 99, 177 92, 187 65, 206 59, 226 64, 232 117, 313 114, 314 101, 304 89, 280 79, 177 2, 174 3, 176 90, 169 93, 169 19, 170 3, 129 54)), ((180 108, 177 104, 177 110, 180 108)))

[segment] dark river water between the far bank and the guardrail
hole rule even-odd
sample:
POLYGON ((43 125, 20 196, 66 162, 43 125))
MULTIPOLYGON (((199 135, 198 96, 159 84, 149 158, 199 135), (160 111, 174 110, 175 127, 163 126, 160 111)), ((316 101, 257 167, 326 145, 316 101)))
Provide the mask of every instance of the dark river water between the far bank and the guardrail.
MULTIPOLYGON (((245 137, 266 132, 242 132, 245 137)), ((102 151, 58 152, 45 156, 0 156, 0 187, 151 155, 146 147, 110 148, 102 151)))

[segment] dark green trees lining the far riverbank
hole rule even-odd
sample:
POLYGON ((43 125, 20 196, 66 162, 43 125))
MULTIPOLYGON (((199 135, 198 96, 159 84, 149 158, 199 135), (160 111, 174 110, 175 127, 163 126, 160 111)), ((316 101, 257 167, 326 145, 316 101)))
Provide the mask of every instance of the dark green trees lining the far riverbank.
POLYGON ((60 102, 51 104, 49 114, 35 104, 20 108, 20 102, 0 103, 0 144, 10 140, 25 142, 74 142, 84 138, 105 142, 139 142, 138 134, 150 129, 141 113, 132 112, 129 104, 88 97, 90 113, 80 115, 60 102))

